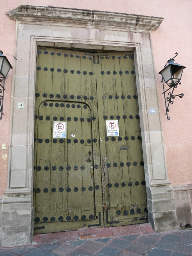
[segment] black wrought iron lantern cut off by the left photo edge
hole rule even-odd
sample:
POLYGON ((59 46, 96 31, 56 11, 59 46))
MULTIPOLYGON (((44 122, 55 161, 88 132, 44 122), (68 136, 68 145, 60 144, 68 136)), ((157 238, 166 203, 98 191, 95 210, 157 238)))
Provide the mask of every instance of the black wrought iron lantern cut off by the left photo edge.
POLYGON ((5 91, 5 79, 6 76, 12 68, 6 56, 3 55, 3 52, 0 51, 0 120, 2 119, 3 114, 3 98, 5 91))

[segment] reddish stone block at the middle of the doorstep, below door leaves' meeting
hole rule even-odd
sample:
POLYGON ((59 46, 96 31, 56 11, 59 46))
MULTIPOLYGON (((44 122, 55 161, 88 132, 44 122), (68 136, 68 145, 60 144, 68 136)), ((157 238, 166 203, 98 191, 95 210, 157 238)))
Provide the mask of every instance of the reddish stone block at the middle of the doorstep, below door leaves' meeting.
POLYGON ((87 239, 92 237, 107 237, 112 236, 113 233, 110 228, 87 228, 78 230, 80 239, 87 239))

